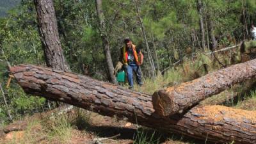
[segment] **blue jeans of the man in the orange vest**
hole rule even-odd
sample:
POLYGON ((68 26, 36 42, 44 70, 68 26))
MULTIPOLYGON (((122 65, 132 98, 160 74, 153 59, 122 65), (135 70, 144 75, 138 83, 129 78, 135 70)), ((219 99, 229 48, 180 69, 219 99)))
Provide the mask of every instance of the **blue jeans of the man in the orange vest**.
POLYGON ((133 87, 133 72, 136 76, 136 81, 138 84, 142 85, 142 79, 141 79, 141 68, 139 65, 136 65, 134 63, 129 64, 125 67, 128 77, 128 82, 130 87, 133 87))

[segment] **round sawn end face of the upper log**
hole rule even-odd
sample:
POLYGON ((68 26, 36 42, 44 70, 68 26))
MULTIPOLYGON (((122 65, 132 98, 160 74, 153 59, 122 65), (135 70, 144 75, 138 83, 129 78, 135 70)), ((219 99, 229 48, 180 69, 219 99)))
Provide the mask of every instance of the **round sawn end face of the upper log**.
POLYGON ((166 90, 159 90, 152 95, 152 103, 155 112, 160 116, 172 115, 172 99, 168 96, 166 90))

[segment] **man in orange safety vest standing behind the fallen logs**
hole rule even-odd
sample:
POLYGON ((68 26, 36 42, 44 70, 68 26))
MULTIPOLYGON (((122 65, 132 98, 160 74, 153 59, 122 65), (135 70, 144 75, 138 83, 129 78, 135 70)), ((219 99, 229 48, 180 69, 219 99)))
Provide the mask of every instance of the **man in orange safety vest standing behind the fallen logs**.
POLYGON ((121 49, 120 61, 118 61, 115 72, 120 70, 124 65, 127 73, 129 88, 133 88, 133 72, 136 76, 137 83, 142 86, 141 80, 141 68, 140 65, 143 63, 143 54, 140 49, 136 49, 136 45, 132 44, 130 38, 124 39, 125 46, 121 49), (122 62, 121 62, 122 61, 122 62))

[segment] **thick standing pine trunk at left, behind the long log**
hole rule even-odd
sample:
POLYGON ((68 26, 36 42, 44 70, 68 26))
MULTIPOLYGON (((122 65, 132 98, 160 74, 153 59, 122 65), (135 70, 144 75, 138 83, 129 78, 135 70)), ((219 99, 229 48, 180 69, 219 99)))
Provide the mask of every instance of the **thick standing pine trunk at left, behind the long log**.
POLYGON ((34 3, 47 67, 69 71, 70 68, 65 61, 63 50, 61 49, 52 0, 34 0, 34 3))

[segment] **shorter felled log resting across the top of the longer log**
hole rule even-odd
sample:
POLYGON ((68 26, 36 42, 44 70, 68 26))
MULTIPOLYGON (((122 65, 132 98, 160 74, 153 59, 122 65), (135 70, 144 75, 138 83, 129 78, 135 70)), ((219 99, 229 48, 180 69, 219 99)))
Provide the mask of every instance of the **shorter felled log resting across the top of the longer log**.
POLYGON ((170 116, 195 106, 206 97, 226 90, 232 84, 255 77, 256 60, 239 63, 178 86, 155 92, 152 102, 156 113, 170 116))

